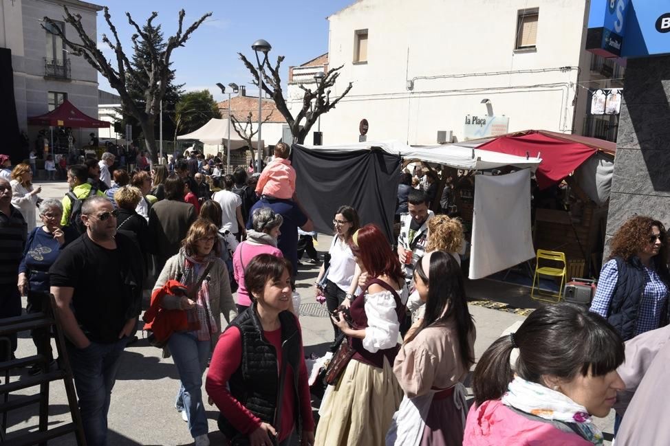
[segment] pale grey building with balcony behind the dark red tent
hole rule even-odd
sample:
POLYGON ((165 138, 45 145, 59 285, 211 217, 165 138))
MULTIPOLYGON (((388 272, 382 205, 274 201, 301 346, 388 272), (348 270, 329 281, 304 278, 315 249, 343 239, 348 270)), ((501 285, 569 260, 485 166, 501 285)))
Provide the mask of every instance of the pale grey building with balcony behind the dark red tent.
MULTIPOLYGON (((19 129, 27 131, 31 141, 39 128, 28 127, 28 118, 53 110, 64 99, 91 117, 98 115, 98 71, 84 58, 70 54, 60 37, 42 27, 45 16, 63 17, 63 5, 80 14, 85 30, 97 40, 96 16, 102 6, 78 0, 0 2, 0 47, 12 51, 19 129)), ((70 25, 65 25, 65 36, 80 42, 70 25)), ((75 131, 75 137, 88 142, 87 134, 79 138, 75 131)))

